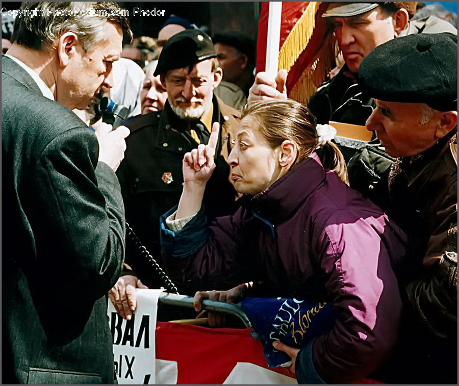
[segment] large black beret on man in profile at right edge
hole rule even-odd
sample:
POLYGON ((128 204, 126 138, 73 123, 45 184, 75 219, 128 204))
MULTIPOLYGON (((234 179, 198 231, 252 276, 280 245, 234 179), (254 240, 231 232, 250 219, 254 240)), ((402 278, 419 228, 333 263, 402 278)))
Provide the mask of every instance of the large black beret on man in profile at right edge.
POLYGON ((362 61, 359 85, 375 99, 457 110, 457 37, 414 34, 389 40, 362 61))

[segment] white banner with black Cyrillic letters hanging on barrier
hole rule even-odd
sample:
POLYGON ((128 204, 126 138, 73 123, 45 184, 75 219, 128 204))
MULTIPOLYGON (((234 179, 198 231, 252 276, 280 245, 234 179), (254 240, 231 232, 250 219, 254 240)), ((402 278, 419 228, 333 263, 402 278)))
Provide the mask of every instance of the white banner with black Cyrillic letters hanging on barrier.
POLYGON ((109 301, 115 374, 120 384, 155 384, 155 330, 158 298, 164 290, 137 289, 131 320, 121 318, 109 301))

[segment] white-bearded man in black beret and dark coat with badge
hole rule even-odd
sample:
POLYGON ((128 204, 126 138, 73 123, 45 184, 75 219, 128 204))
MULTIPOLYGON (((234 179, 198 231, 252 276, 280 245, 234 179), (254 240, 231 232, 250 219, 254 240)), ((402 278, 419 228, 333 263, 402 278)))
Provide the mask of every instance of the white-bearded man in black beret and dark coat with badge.
MULTIPOLYGON (((213 93, 222 78, 222 70, 211 38, 199 30, 185 30, 172 36, 164 45, 154 75, 161 76, 167 90, 166 104, 163 110, 141 115, 126 124, 131 129, 129 150, 117 175, 126 221, 158 258, 159 218, 179 202, 183 157, 200 143, 207 144, 214 122, 220 123, 220 140, 216 170, 206 187, 206 210, 213 218, 233 214, 237 209, 237 194, 228 180, 230 172, 225 160, 233 146, 231 140, 239 113, 213 93)), ((126 262, 148 287, 163 286, 129 243, 126 262)), ((131 274, 118 280, 110 297, 120 315, 127 317, 132 310, 124 296, 126 286, 131 294, 141 284, 133 272, 125 273, 131 274)), ((179 290, 187 293, 185 288, 179 290)))

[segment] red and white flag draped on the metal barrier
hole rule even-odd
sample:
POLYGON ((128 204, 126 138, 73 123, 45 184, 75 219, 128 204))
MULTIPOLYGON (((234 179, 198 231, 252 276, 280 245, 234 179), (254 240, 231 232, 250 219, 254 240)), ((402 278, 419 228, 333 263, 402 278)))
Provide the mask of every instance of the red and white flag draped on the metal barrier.
MULTIPOLYGON (((207 328, 158 322, 156 359, 176 364, 177 384, 294 383, 290 367, 269 368, 251 328, 207 328), (240 374, 237 374, 237 372, 240 374), (232 378, 231 378, 232 377, 232 378), (263 378, 262 378, 263 377, 263 378), (230 381, 231 379, 231 381, 230 381), (236 382, 234 382, 236 380, 236 382)), ((158 367, 157 367, 157 381, 158 367)), ((380 383, 362 379, 356 383, 380 383)))

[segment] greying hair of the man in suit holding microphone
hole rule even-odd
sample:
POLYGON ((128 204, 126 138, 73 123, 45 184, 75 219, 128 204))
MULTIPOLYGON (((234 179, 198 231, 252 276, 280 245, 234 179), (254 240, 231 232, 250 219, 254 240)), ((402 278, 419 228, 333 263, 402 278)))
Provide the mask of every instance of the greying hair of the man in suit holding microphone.
POLYGON ((132 39, 127 11, 113 2, 23 2, 14 21, 12 41, 35 50, 52 46, 63 33, 78 35, 85 51, 103 39, 107 21, 132 39))

